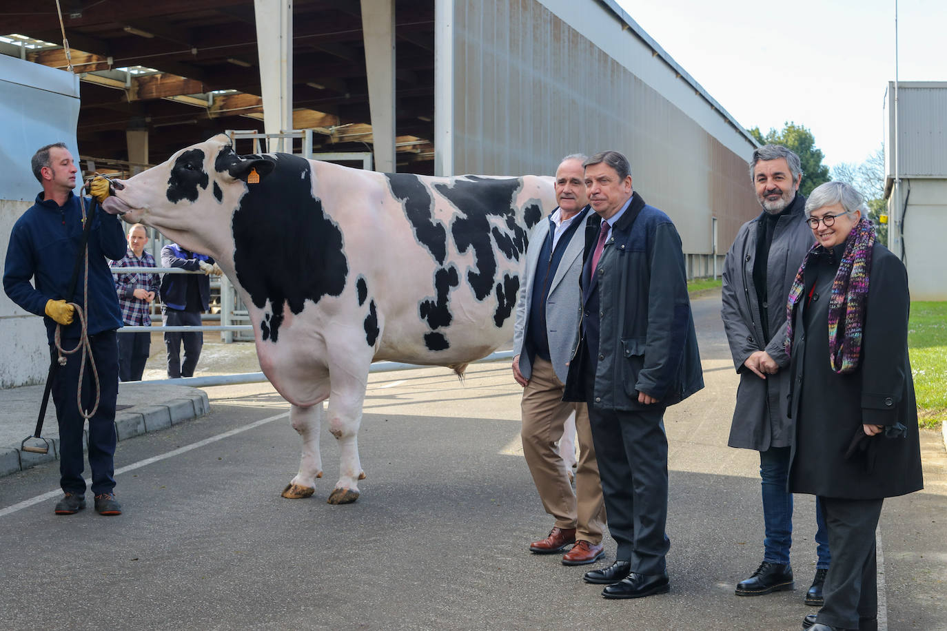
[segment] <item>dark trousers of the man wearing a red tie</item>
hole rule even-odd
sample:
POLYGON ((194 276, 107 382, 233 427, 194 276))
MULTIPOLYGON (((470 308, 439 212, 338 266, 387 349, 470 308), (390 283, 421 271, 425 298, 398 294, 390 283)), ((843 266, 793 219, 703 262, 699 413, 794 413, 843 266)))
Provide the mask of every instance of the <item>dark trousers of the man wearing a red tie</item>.
POLYGON ((642 412, 602 411, 589 405, 608 529, 617 543, 616 560, 631 561, 632 571, 639 574, 667 571, 664 411, 663 406, 642 412))

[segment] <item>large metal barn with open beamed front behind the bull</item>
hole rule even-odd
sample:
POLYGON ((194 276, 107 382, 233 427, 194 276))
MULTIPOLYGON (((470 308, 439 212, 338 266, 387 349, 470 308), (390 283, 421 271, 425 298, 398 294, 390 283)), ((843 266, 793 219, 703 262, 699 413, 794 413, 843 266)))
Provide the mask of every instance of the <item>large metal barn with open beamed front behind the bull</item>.
MULTIPOLYGON (((134 172, 227 130, 311 130, 294 150, 438 175, 551 175, 563 155, 617 149, 695 277, 716 275, 759 214, 753 138, 614 0, 72 0, 68 56, 53 5, 0 0, 0 17, 0 53, 71 61, 80 108, 61 127, 87 171, 134 172)), ((8 176, 28 183, 15 163, 8 176)), ((31 201, 9 199, 5 235, 31 201)), ((6 296, 0 326, 35 328, 24 343, 45 347, 6 296)), ((43 377, 0 364, 4 385, 43 377)))

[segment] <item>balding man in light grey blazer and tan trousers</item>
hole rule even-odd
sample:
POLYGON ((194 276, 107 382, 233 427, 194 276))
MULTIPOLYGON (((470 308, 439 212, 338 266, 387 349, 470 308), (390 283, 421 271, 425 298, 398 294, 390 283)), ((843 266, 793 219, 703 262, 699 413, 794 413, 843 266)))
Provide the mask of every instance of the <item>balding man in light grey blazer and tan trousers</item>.
POLYGON ((513 378, 524 387, 523 452, 545 512, 556 519, 549 535, 534 541, 529 550, 561 552, 574 543, 563 556, 563 565, 593 563, 604 555, 605 505, 588 410, 582 403, 563 402, 579 328, 581 254, 591 214, 586 206, 584 159, 579 154, 563 158, 556 169, 559 207, 529 236, 513 337, 513 378), (580 447, 575 493, 556 445, 572 412, 580 447))

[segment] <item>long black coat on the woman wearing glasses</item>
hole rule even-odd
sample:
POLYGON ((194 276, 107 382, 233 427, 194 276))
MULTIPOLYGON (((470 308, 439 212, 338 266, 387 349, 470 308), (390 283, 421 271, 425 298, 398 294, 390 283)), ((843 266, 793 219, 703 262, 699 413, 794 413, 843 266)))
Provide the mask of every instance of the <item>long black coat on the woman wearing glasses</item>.
POLYGON ((828 315, 843 251, 843 245, 834 251, 820 248, 806 267, 805 289, 795 307, 789 408, 795 444, 789 490, 850 500, 904 495, 923 488, 907 355, 907 272, 894 254, 875 244, 861 360, 854 372, 838 375, 829 363, 828 315), (807 305, 810 289, 813 298, 807 305), (897 423, 906 435, 868 438, 862 429, 863 424, 893 428, 897 423))

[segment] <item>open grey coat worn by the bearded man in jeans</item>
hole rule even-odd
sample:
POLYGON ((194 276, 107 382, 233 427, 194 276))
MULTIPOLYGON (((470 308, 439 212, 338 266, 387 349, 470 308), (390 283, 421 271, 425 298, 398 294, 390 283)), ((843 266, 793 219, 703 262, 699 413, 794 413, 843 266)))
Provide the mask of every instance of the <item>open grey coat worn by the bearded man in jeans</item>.
POLYGON ((727 445, 765 451, 793 443, 793 423, 787 415, 789 357, 783 349, 786 335, 786 302, 802 259, 815 243, 803 213, 805 198, 796 194, 792 210, 778 219, 766 264, 766 301, 769 340, 763 339, 753 264, 757 258, 760 215, 744 223, 726 253, 723 307, 726 338, 733 365, 740 375, 737 404, 733 411, 727 445), (743 362, 754 352, 765 350, 777 364, 776 375, 757 377, 743 362))

